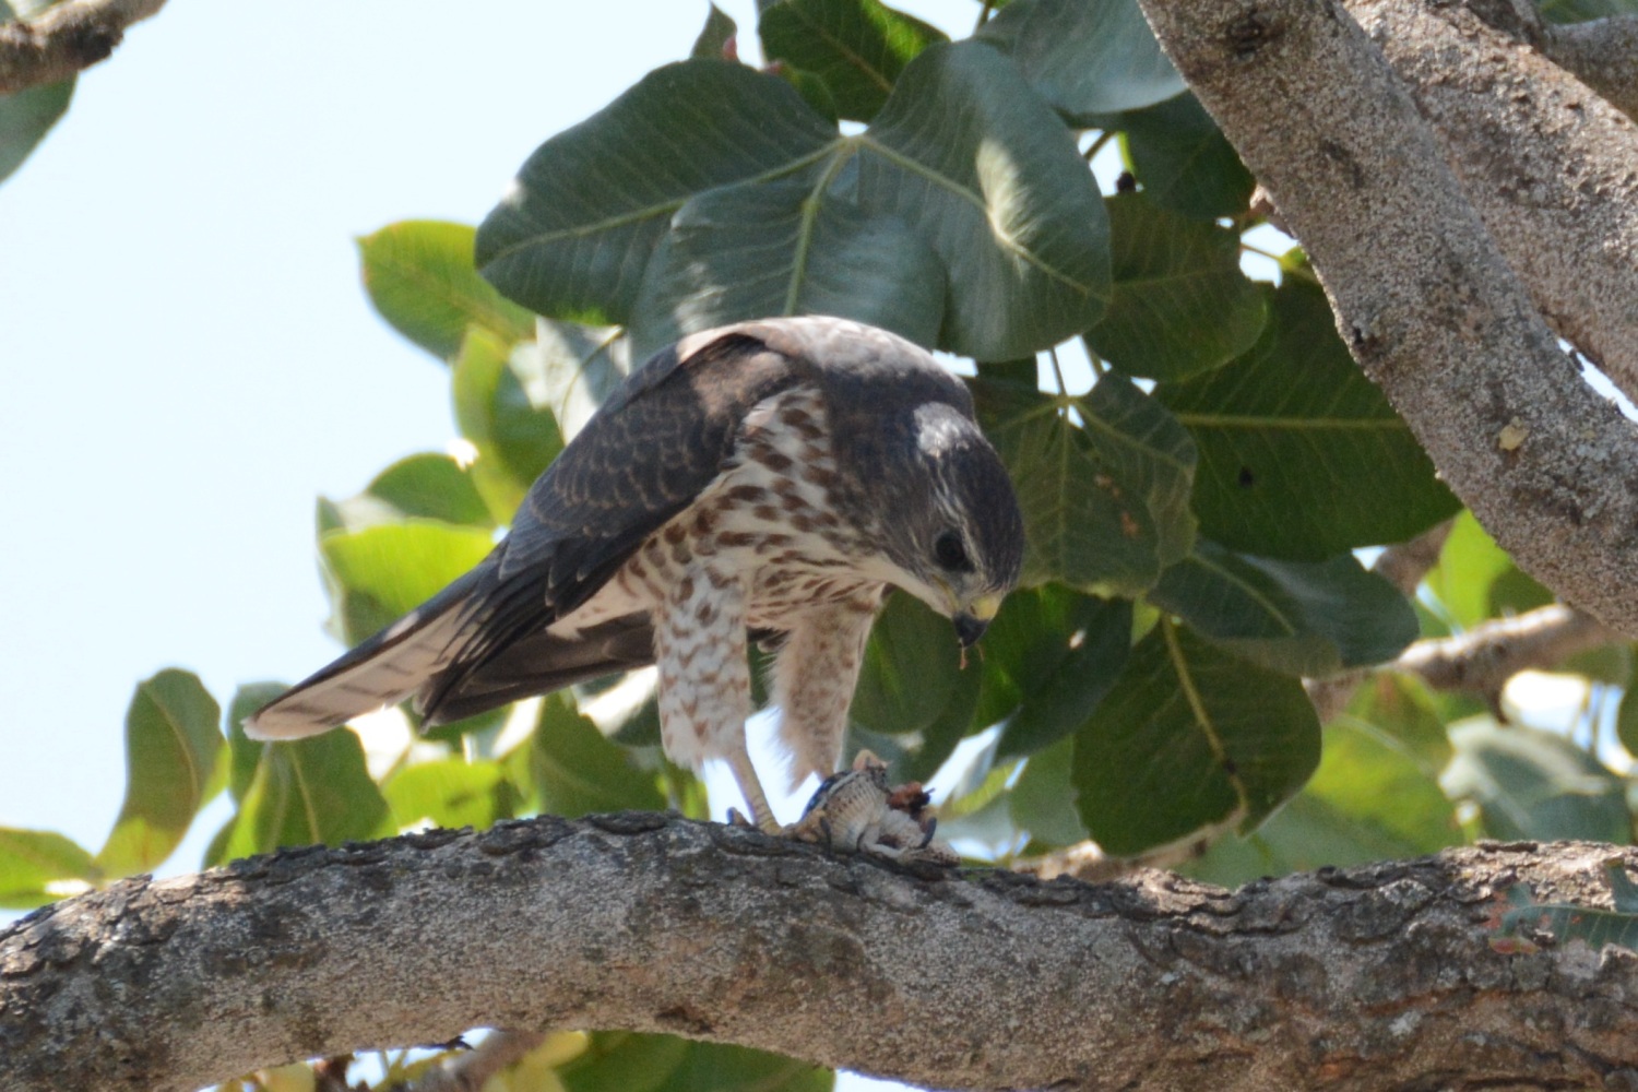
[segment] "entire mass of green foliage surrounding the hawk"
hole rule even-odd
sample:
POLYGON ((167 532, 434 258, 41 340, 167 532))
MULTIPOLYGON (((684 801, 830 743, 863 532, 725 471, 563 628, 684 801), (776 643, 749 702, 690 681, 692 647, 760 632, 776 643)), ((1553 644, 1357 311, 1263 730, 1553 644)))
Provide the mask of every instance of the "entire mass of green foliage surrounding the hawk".
MULTIPOLYGON (((1604 13, 1584 8, 1543 5, 1604 13)), ((1391 670, 1319 724, 1304 678, 1550 596, 1458 516, 1301 250, 1243 272, 1278 236, 1130 0, 1014 0, 963 41, 875 0, 778 0, 760 11, 763 70, 737 62, 734 31, 713 10, 688 59, 547 139, 477 228, 401 221, 359 241, 372 303, 447 368, 470 447, 319 501, 337 639, 475 563, 634 360, 742 318, 845 314, 976 362, 1025 509, 1025 586, 981 655, 963 665, 947 622, 894 598, 853 706, 853 745, 901 779, 942 771, 940 830, 963 850, 1188 843, 1189 871, 1237 884, 1476 837, 1630 840, 1623 645, 1564 665, 1572 697, 1540 724, 1518 724, 1509 693, 1486 704, 1391 670), (1102 193, 1089 160, 1109 147, 1124 170, 1102 193), (1091 385, 1065 380, 1070 349, 1091 385), (1415 601, 1360 560, 1453 516, 1415 601)), ((0 177, 66 108, 67 87, 44 92, 0 100, 0 177)), ((0 905, 156 868, 223 792, 234 814, 206 864, 542 810, 709 814, 658 751, 642 676, 396 750, 351 732, 251 743, 239 720, 277 691, 246 684, 224 712, 185 671, 143 681, 106 843, 0 830, 0 905)), ((391 1059, 382 1079, 428 1063, 391 1059)), ((285 1077, 303 1079, 257 1081, 285 1077)), ((595 1035, 554 1036, 505 1082, 829 1076, 595 1035)))

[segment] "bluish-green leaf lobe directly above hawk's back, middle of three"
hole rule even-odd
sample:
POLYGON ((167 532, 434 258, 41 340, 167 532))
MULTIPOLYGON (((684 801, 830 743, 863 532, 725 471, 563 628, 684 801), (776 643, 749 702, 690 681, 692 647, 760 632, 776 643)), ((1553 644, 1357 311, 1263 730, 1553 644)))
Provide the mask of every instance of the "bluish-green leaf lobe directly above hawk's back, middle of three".
POLYGON ((634 354, 771 314, 837 314, 934 345, 943 264, 904 221, 827 192, 829 165, 709 190, 683 205, 637 296, 634 354))

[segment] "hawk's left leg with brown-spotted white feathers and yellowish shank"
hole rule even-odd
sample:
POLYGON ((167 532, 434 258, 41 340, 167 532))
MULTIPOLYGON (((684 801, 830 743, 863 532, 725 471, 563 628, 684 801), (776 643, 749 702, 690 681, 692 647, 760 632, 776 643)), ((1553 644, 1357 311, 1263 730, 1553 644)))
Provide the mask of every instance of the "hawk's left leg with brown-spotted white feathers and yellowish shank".
POLYGON ((750 817, 776 832, 768 797, 745 750, 750 666, 745 661, 745 589, 732 573, 673 544, 683 565, 654 612, 654 657, 660 668, 660 743, 672 761, 699 768, 727 760, 750 817))

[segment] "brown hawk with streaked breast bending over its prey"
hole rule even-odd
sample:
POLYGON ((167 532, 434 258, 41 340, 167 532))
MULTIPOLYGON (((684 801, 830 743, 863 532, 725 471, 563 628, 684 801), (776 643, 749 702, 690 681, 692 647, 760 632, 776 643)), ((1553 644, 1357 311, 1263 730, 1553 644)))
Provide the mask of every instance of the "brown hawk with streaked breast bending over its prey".
POLYGON ((436 725, 657 663, 665 753, 726 760, 776 830, 745 750, 747 634, 776 648, 793 779, 822 779, 886 591, 966 647, 1022 553, 1007 473, 927 352, 835 318, 724 326, 634 370, 477 568, 244 727, 300 738, 406 697, 436 725))

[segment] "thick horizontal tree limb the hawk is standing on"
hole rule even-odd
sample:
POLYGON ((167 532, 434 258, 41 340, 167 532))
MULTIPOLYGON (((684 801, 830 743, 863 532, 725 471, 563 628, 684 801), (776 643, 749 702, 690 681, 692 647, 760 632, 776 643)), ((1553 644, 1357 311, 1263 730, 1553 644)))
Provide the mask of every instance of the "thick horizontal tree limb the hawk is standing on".
POLYGON ((1638 864, 1491 845, 1230 894, 914 876, 632 814, 287 851, 0 933, 0 1087, 195 1089, 473 1025, 675 1031, 947 1089, 1638 1081, 1638 956, 1497 950, 1486 925, 1518 879, 1607 904, 1610 855, 1638 864))

